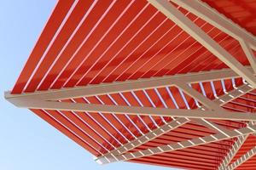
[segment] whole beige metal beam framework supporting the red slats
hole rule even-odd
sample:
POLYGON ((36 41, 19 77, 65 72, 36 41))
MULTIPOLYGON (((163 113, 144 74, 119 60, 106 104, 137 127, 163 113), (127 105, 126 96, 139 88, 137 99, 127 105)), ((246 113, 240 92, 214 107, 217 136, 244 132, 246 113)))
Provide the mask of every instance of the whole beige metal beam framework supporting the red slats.
POLYGON ((146 115, 146 116, 172 116, 177 117, 172 122, 167 122, 161 127, 157 127, 153 131, 134 139, 133 141, 123 144, 115 150, 111 150, 107 154, 97 157, 96 161, 99 163, 109 163, 113 161, 127 161, 142 156, 150 156, 160 154, 166 151, 180 150, 200 144, 208 144, 217 142, 223 139, 238 138, 236 143, 232 146, 229 154, 220 164, 219 169, 227 168, 234 169, 241 165, 242 162, 247 161, 251 156, 256 154, 256 148, 247 152, 237 161, 230 163, 233 156, 240 149, 241 145, 247 139, 248 134, 256 132, 256 125, 247 125, 235 130, 229 130, 218 126, 216 123, 207 121, 206 119, 221 119, 221 120, 239 120, 239 121, 256 121, 256 115, 250 113, 225 111, 221 105, 228 103, 232 99, 236 99, 242 94, 256 88, 256 78, 253 74, 256 73, 256 59, 253 54, 253 49, 256 49, 256 39, 253 35, 236 26, 230 20, 227 20, 223 15, 218 14, 207 4, 195 0, 193 3, 189 1, 172 0, 177 5, 186 8, 189 12, 196 14, 203 20, 206 20, 212 26, 224 31, 230 36, 236 38, 247 56, 251 66, 241 65, 231 54, 222 48, 217 42, 207 35, 200 27, 196 26, 177 8, 169 3, 167 0, 148 0, 161 13, 165 14, 167 18, 174 21, 177 26, 180 26, 183 31, 189 33, 196 41, 200 42, 212 54, 218 57, 230 69, 220 71, 201 71, 199 73, 188 73, 183 75, 174 75, 166 77, 153 77, 148 79, 139 79, 136 81, 126 82, 112 82, 99 85, 89 85, 86 87, 77 88, 62 88, 58 90, 48 90, 42 92, 26 93, 26 94, 5 94, 5 98, 18 107, 25 107, 29 109, 44 109, 44 110, 59 110, 59 111, 92 111, 102 113, 115 113, 127 115, 146 115), (227 79, 231 77, 243 77, 249 84, 243 85, 230 93, 210 100, 204 95, 190 88, 189 82, 209 82, 219 79, 227 79), (85 96, 100 95, 100 94, 114 94, 119 92, 127 92, 131 90, 141 90, 148 88, 160 88, 167 86, 177 86, 181 88, 186 94, 199 100, 203 106, 197 110, 181 110, 181 109, 163 109, 153 107, 137 107, 137 106, 121 106, 121 105, 94 105, 94 104, 79 104, 59 102, 56 100, 73 99, 85 96), (169 132, 172 129, 182 126, 190 120, 200 123, 205 127, 212 128, 218 133, 198 139, 190 139, 176 144, 166 144, 159 147, 150 148, 147 150, 139 150, 133 153, 128 153, 128 150, 136 148, 137 146, 155 139, 160 135, 169 132), (227 167, 228 166, 228 167, 227 167))

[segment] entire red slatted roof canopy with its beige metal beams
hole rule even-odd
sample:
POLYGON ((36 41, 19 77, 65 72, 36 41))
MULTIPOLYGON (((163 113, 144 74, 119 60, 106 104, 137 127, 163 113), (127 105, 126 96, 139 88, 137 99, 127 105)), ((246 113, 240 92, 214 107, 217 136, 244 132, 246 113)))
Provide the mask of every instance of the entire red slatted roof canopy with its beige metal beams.
POLYGON ((255 169, 255 0, 58 1, 5 98, 101 164, 255 169))

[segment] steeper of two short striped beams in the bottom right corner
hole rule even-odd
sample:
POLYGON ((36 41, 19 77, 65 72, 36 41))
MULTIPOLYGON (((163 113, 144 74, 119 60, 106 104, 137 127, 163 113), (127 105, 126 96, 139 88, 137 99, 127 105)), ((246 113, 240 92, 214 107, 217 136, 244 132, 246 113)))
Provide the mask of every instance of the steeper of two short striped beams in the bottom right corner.
POLYGON ((244 142, 247 140, 247 138, 248 138, 248 135, 240 136, 237 138, 235 144, 232 145, 232 148, 230 149, 227 156, 224 157, 224 160, 218 166, 218 170, 226 169, 226 167, 230 164, 230 161, 232 161, 234 156, 236 156, 236 153, 238 152, 238 150, 240 150, 241 145, 244 144, 244 142))

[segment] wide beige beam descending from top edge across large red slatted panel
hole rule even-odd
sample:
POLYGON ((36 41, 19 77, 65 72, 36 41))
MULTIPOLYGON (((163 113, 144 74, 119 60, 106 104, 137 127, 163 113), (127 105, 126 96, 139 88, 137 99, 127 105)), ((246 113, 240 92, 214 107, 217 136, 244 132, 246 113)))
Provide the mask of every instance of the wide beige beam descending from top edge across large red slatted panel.
POLYGON ((177 26, 181 27, 183 31, 189 33, 191 37, 194 37, 197 42, 200 42, 205 48, 207 48, 218 59, 228 65, 238 75, 243 77, 254 88, 256 88, 256 78, 252 72, 248 71, 240 62, 238 62, 229 52, 221 47, 218 42, 215 42, 212 37, 209 37, 205 31, 202 31, 200 27, 196 26, 194 22, 189 20, 182 12, 169 3, 167 0, 148 0, 155 8, 165 14, 167 18, 174 21, 177 26))

